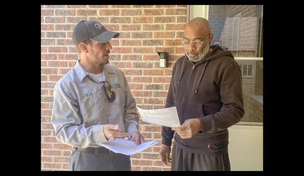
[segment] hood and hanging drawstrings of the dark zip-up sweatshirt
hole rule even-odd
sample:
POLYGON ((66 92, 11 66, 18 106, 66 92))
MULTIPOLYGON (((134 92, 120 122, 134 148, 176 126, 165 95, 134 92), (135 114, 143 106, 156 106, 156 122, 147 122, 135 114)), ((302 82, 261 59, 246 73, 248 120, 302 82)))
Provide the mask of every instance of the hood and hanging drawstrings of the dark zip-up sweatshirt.
MULTIPOLYGON (((196 83, 195 93, 197 93, 197 91, 199 90, 199 86, 200 86, 202 77, 203 77, 203 75, 204 75, 205 68, 206 68, 206 66, 207 66, 207 64, 208 64, 208 61, 213 60, 213 59, 217 59, 217 58, 222 57, 222 56, 227 56, 227 57, 231 57, 231 58, 234 59, 234 57, 233 57, 231 51, 223 51, 223 49, 222 49, 220 46, 218 46, 218 45, 210 46, 210 49, 212 49, 212 51, 211 51, 210 53, 208 53, 208 54, 206 55, 206 57, 205 57, 202 61, 197 62, 197 63, 193 66, 193 69, 194 69, 196 65, 199 65, 199 64, 205 62, 205 65, 204 65, 204 68, 203 68, 203 70, 202 70, 200 79, 199 79, 199 81, 196 83)), ((178 77, 178 84, 179 84, 179 81, 181 80, 182 74, 183 74, 183 72, 184 72, 185 65, 186 65, 185 63, 186 63, 186 62, 192 62, 192 61, 190 61, 190 60, 187 58, 187 56, 185 55, 185 56, 184 56, 184 59, 183 59, 183 61, 182 61, 181 72, 180 72, 179 77, 178 77)))

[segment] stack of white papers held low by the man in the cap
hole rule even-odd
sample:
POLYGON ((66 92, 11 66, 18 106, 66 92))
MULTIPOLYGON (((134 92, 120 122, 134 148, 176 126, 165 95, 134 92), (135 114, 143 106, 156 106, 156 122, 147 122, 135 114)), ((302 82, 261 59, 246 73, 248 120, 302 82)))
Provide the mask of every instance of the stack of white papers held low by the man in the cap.
POLYGON ((122 153, 124 155, 133 155, 139 153, 149 147, 156 145, 158 142, 156 140, 149 141, 145 143, 141 143, 140 145, 136 145, 133 141, 128 141, 124 139, 116 139, 116 140, 108 140, 101 145, 115 153, 122 153))

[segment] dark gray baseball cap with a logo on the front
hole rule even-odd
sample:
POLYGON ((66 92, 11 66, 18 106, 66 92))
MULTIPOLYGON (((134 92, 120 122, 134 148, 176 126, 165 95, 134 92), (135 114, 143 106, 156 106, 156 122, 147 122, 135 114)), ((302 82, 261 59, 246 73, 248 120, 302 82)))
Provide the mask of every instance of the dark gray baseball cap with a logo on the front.
POLYGON ((98 42, 108 42, 112 37, 119 36, 119 32, 108 31, 97 21, 80 21, 73 29, 73 44, 77 45, 87 39, 98 42))

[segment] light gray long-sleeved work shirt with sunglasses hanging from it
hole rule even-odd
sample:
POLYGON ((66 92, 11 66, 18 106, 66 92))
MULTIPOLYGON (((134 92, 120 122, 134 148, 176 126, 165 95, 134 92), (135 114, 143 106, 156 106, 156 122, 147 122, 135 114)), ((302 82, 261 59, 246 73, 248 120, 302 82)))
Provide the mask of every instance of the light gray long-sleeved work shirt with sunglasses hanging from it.
POLYGON ((78 148, 100 147, 106 142, 104 124, 119 124, 129 139, 138 131, 139 115, 122 70, 103 65, 105 80, 116 99, 109 102, 103 85, 95 81, 80 64, 58 80, 54 87, 52 124, 56 139, 78 148))

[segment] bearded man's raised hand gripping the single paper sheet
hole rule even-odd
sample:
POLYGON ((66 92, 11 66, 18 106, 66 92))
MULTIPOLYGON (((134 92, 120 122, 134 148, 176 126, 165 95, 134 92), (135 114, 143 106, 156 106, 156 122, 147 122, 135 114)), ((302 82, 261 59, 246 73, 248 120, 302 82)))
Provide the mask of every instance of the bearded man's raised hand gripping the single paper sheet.
POLYGON ((201 121, 197 118, 191 118, 184 121, 178 127, 173 127, 174 130, 182 139, 189 139, 196 136, 202 130, 201 121))

